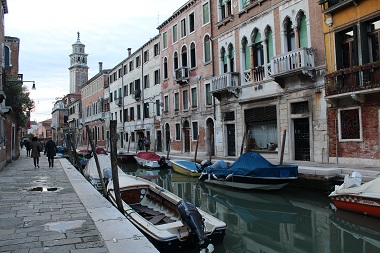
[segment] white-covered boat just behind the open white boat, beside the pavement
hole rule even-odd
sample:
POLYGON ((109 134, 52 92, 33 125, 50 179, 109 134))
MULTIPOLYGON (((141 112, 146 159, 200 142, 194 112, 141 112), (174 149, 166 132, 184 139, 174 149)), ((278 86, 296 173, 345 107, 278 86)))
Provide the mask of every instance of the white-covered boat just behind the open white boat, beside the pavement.
MULTIPOLYGON (((112 177, 111 158, 105 154, 99 154, 97 157, 102 176, 105 178, 105 181, 107 181, 108 178, 112 177)), ((119 175, 125 174, 119 166, 117 166, 117 169, 119 175)), ((91 159, 87 162, 83 170, 83 175, 98 191, 102 190, 102 184, 100 182, 100 177, 94 157, 91 157, 91 159)))

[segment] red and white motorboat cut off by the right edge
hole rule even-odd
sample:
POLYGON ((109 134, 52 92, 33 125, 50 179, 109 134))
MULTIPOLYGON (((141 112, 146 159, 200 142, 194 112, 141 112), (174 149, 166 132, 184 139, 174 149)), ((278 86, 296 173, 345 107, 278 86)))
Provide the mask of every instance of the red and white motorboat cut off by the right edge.
POLYGON ((380 218, 380 177, 362 184, 362 176, 354 171, 329 195, 337 209, 380 218))

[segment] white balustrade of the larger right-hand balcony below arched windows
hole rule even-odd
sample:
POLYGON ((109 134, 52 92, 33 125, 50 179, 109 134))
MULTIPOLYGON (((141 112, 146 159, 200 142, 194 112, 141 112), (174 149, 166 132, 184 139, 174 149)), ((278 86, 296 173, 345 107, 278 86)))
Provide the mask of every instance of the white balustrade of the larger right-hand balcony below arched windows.
POLYGON ((271 59, 273 76, 287 75, 314 68, 314 52, 311 48, 298 48, 271 59))

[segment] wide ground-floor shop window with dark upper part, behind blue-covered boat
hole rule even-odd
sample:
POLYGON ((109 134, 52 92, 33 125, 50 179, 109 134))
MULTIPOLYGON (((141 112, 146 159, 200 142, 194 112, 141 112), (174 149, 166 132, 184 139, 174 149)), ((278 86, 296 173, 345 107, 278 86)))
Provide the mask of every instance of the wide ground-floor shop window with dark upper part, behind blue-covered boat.
POLYGON ((251 108, 244 110, 244 114, 247 130, 250 131, 249 150, 272 150, 277 147, 276 106, 251 108))

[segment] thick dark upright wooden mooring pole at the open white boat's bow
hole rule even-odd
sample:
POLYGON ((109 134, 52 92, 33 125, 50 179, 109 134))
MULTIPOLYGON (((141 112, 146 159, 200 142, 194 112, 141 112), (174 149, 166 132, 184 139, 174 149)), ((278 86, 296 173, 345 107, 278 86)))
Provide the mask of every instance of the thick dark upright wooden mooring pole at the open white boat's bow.
POLYGON ((123 204, 121 202, 120 196, 120 186, 119 186, 119 174, 117 168, 117 132, 116 132, 116 120, 110 121, 110 135, 111 135, 111 167, 112 167, 112 181, 113 181, 113 190, 116 198, 117 209, 121 213, 124 213, 123 204))

